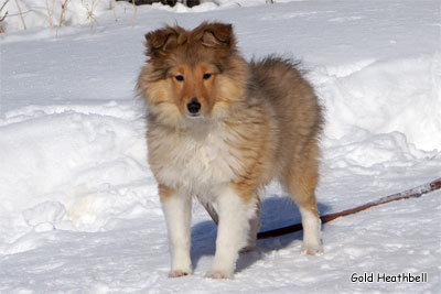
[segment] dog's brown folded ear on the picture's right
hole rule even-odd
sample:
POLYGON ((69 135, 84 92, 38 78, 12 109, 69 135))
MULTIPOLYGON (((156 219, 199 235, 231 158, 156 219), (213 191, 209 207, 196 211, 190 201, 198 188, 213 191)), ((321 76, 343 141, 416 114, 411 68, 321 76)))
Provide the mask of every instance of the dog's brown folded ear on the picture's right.
POLYGON ((202 23, 202 44, 207 47, 235 48, 236 37, 233 32, 233 25, 226 23, 202 23))

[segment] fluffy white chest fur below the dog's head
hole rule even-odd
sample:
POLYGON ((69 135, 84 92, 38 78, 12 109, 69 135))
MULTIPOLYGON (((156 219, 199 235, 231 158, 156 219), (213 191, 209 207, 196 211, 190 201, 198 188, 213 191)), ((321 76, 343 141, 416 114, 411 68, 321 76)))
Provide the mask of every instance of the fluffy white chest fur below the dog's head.
POLYGON ((157 161, 157 177, 163 184, 204 194, 234 178, 238 163, 222 132, 209 132, 203 138, 175 134, 168 139, 164 138, 169 142, 161 151, 163 159, 157 161))

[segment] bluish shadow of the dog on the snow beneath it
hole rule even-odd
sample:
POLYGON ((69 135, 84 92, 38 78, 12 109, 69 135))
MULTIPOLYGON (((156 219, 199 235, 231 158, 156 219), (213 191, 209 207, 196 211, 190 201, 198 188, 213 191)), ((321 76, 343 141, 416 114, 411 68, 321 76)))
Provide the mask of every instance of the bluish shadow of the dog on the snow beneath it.
MULTIPOLYGON (((320 215, 325 215, 331 207, 318 204, 320 215)), ((301 222, 300 211, 289 197, 268 197, 261 204, 260 231, 277 229, 301 222)), ((214 257, 216 250, 217 227, 212 220, 198 222, 192 228, 192 262, 197 268, 201 258, 214 257)), ((299 244, 299 252, 302 243, 303 232, 298 231, 281 237, 258 240, 256 249, 247 253, 240 253, 236 264, 236 272, 250 266, 259 261, 266 252, 280 250, 292 243, 299 244)))

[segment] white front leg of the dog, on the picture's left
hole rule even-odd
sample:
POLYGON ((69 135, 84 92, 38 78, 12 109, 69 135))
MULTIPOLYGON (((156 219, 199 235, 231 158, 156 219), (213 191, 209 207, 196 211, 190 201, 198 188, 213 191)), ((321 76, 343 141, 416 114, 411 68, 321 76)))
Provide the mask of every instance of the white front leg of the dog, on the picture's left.
POLYGON ((171 272, 169 277, 192 273, 190 259, 192 197, 160 185, 160 196, 169 230, 171 272))

